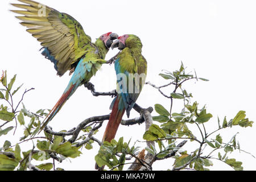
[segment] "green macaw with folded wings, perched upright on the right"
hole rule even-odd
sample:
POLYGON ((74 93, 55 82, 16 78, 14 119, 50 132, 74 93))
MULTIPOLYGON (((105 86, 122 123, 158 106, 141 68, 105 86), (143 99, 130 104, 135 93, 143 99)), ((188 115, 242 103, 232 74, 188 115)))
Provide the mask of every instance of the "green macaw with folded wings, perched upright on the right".
POLYGON ((110 106, 112 113, 102 142, 110 142, 115 137, 125 111, 129 118, 147 75, 147 61, 142 56, 142 43, 138 36, 123 35, 112 44, 112 48, 115 47, 122 50, 115 59, 118 95, 110 106))

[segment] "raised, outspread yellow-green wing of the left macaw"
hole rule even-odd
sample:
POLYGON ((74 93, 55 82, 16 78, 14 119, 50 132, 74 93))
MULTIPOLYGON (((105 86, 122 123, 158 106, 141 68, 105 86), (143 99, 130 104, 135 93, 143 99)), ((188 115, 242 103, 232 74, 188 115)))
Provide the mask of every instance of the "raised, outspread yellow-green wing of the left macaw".
POLYGON ((18 1, 24 4, 11 5, 24 10, 11 11, 22 15, 16 16, 20 24, 41 42, 42 54, 55 64, 57 75, 64 75, 92 46, 92 39, 72 16, 35 1, 18 1))

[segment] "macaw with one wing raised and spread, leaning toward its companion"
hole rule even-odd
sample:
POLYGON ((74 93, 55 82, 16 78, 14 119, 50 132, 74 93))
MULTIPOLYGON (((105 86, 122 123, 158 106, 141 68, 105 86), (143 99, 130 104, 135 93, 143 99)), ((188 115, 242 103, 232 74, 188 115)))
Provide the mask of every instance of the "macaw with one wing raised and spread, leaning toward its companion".
POLYGON ((57 75, 62 76, 68 70, 70 75, 73 73, 63 95, 42 123, 43 129, 76 89, 88 82, 106 63, 106 53, 118 35, 109 32, 92 43, 90 36, 72 16, 35 1, 18 1, 24 4, 11 5, 24 10, 11 11, 23 15, 16 18, 22 20, 20 24, 41 42, 44 49, 42 55, 54 63, 57 75))

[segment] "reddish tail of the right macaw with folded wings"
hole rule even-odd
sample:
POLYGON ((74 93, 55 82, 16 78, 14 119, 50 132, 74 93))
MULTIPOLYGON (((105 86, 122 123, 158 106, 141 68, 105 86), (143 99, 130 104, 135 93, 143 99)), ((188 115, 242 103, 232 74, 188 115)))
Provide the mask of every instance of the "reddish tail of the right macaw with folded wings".
POLYGON ((105 133, 103 135, 102 142, 111 142, 115 138, 117 129, 122 121, 123 114, 125 113, 125 106, 123 105, 122 98, 115 98, 112 112, 110 114, 108 125, 106 126, 105 133))

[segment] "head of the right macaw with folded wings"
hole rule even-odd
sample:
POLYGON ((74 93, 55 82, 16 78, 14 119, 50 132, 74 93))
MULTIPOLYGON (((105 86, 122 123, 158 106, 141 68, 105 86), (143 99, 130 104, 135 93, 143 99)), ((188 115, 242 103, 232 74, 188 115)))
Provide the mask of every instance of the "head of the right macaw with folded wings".
POLYGON ((126 47, 128 48, 139 48, 142 49, 141 39, 138 36, 133 34, 125 34, 123 36, 119 36, 117 40, 112 44, 111 48, 117 48, 122 50, 126 47))

